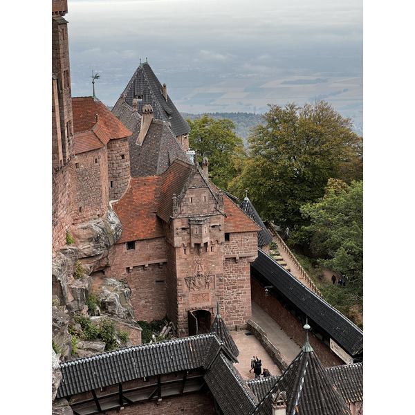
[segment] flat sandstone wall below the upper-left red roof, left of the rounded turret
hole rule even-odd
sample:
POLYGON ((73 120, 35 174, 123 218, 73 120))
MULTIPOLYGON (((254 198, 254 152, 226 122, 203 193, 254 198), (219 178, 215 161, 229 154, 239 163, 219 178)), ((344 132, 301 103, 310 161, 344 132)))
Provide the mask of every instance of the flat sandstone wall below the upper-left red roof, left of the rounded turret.
POLYGON ((73 223, 102 216, 109 205, 106 147, 77 154, 71 165, 73 223))

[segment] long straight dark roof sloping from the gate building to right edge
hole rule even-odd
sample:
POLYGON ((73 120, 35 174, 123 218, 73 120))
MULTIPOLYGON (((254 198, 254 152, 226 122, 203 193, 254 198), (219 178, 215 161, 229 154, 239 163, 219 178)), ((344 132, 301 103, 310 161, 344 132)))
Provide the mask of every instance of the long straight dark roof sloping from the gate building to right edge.
POLYGON ((251 263, 251 275, 264 277, 297 306, 308 319, 328 333, 351 356, 363 351, 363 332, 324 299, 315 295, 275 259, 258 249, 258 257, 251 263))

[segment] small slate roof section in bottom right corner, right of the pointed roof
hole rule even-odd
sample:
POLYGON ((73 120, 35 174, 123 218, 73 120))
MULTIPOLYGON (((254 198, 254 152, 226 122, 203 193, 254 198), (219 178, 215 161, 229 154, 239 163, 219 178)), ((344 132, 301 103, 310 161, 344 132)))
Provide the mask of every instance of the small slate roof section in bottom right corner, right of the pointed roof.
POLYGON ((363 363, 326 368, 346 403, 363 401, 363 363))

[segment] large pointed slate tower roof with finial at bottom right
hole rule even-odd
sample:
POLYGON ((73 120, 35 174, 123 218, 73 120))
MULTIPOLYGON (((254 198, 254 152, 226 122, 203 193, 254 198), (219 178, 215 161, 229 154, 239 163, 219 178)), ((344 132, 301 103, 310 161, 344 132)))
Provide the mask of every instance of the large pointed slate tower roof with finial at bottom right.
POLYGON ((310 326, 306 324, 304 328, 307 332, 302 351, 261 400, 253 414, 272 414, 272 394, 285 391, 286 415, 351 415, 333 379, 308 342, 310 326))

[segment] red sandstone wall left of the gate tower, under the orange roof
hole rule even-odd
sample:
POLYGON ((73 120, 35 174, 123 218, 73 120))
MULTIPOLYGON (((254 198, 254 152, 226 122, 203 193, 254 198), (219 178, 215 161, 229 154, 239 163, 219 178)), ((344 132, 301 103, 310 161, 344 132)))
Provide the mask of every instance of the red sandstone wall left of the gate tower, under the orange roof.
POLYGON ((164 238, 136 241, 135 248, 127 250, 126 243, 116 243, 111 248, 111 264, 105 274, 127 280, 136 320, 161 320, 167 313, 164 238))

